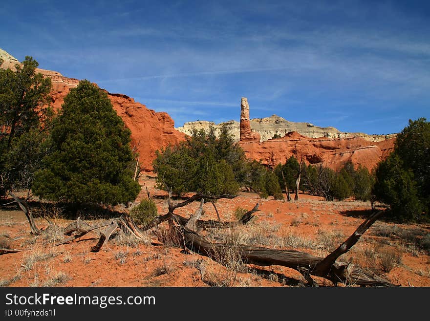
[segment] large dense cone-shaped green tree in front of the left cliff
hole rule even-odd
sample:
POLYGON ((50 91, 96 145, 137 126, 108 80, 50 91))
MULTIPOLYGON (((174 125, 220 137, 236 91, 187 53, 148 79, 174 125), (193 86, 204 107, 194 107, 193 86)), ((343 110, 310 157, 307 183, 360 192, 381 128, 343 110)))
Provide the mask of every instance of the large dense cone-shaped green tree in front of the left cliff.
POLYGON ((87 80, 71 89, 50 133, 51 152, 35 174, 33 192, 74 204, 115 205, 140 191, 132 179, 130 131, 108 95, 87 80))

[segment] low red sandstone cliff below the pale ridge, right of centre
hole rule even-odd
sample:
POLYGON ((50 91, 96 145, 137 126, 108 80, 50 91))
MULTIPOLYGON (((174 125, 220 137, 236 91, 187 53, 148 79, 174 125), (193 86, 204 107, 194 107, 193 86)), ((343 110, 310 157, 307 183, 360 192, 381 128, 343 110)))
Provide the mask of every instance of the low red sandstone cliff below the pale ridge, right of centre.
MULTIPOLYGON (((243 127, 247 127, 246 122, 243 127)), ((242 129, 242 124, 240 128, 242 129)), ((309 138, 295 131, 282 138, 264 142, 248 139, 249 135, 245 137, 239 144, 246 156, 260 160, 265 165, 274 167, 283 164, 294 155, 299 161, 303 159, 307 164, 322 163, 324 167, 333 170, 339 170, 348 160, 351 160, 356 168, 362 165, 371 170, 378 162, 387 158, 394 148, 395 140, 391 138, 382 142, 370 142, 361 137, 309 138)))

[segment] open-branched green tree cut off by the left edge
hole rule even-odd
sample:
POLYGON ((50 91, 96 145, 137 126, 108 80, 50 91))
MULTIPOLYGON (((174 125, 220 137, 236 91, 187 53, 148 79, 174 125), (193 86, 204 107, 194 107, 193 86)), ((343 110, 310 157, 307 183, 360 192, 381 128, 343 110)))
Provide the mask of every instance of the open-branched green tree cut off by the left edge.
POLYGON ((26 56, 15 71, 0 68, 0 196, 29 188, 46 151, 51 80, 38 65, 26 56))

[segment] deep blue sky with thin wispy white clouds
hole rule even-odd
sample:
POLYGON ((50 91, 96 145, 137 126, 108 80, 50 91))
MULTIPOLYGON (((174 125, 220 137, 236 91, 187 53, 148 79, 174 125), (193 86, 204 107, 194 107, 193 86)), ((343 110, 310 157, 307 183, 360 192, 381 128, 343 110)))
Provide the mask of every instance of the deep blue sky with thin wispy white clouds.
POLYGON ((2 1, 0 47, 175 126, 277 114, 342 131, 430 119, 430 1, 2 1))

